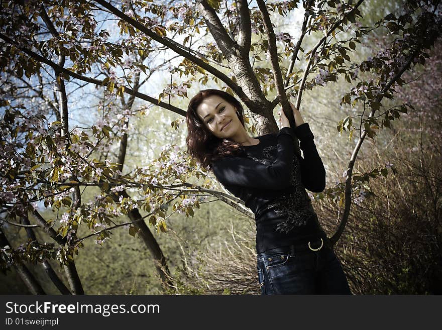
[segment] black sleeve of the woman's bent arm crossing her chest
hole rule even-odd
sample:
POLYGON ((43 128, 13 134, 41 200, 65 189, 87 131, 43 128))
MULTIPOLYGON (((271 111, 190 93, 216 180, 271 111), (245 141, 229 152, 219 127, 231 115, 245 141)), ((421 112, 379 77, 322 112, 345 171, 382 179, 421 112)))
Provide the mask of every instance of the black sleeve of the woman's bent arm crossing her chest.
POLYGON ((279 130, 277 156, 271 165, 246 157, 226 157, 212 162, 213 174, 224 186, 237 185, 250 188, 279 190, 291 185, 294 139, 289 127, 279 130))

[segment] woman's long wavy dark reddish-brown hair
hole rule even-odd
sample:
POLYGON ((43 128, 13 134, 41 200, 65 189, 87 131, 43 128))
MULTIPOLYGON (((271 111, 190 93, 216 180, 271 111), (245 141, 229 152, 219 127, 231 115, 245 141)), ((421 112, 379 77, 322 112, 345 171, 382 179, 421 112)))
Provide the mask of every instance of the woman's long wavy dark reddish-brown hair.
POLYGON ((217 95, 237 109, 237 116, 244 125, 244 108, 241 103, 231 94, 218 89, 200 90, 193 96, 187 106, 186 124, 187 124, 187 151, 194 157, 203 168, 211 168, 210 163, 213 160, 227 156, 244 155, 244 147, 230 139, 220 139, 215 137, 204 125, 203 121, 196 113, 196 108, 201 102, 211 95, 217 95))

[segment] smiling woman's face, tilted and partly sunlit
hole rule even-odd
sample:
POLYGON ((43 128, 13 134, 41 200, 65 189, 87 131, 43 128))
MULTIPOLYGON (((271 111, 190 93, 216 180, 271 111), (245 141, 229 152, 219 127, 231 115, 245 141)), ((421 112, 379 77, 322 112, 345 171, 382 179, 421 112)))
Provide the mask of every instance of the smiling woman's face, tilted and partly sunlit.
POLYGON ((236 111, 235 106, 218 95, 207 96, 196 108, 204 125, 220 139, 232 137, 242 127, 236 111))

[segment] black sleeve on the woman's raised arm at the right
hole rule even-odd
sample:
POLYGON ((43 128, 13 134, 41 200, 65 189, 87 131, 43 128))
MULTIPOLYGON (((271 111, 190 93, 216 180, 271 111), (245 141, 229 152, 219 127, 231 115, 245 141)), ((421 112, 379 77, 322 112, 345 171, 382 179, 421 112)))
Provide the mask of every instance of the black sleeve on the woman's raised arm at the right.
POLYGON ((304 158, 298 157, 302 184, 312 192, 321 192, 325 188, 325 168, 316 150, 313 133, 307 123, 294 128, 293 133, 299 139, 299 146, 304 154, 304 158))

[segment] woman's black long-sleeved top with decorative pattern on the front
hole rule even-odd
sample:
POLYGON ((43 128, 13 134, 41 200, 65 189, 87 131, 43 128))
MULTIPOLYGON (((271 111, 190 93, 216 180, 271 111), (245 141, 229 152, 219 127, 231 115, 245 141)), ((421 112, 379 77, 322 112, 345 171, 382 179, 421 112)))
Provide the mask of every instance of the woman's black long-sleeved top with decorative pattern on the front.
POLYGON ((308 124, 257 138, 259 144, 244 146, 246 157, 211 163, 218 181, 254 212, 257 252, 325 237, 305 191, 325 187, 325 169, 308 124), (293 135, 303 157, 294 153, 293 135))

